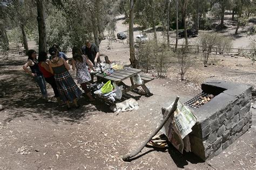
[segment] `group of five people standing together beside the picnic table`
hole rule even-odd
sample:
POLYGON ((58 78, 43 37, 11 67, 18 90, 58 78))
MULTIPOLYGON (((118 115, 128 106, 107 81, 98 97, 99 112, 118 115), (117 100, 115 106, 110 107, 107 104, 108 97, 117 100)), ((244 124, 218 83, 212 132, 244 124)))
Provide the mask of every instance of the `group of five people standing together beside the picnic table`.
MULTIPOLYGON (((82 95, 82 91, 78 88, 69 73, 70 65, 67 63, 69 60, 68 57, 65 53, 59 52, 57 45, 50 47, 49 53, 51 55, 49 61, 46 52, 40 52, 37 59, 36 51, 30 49, 28 51, 28 61, 23 65, 23 69, 26 73, 34 77, 46 101, 49 101, 49 98, 45 81, 51 85, 59 105, 66 103, 67 109, 70 110, 70 102, 72 102, 75 108, 79 108, 77 98, 82 95), (31 71, 28 67, 30 67, 31 71)), ((97 62, 100 62, 99 49, 89 40, 86 40, 82 48, 72 48, 72 59, 70 59, 70 63, 72 69, 77 70, 77 83, 79 83, 85 91, 90 102, 94 101, 94 98, 91 95, 90 89, 87 88, 87 85, 90 86, 93 78, 87 66, 95 70, 93 65, 97 62)))

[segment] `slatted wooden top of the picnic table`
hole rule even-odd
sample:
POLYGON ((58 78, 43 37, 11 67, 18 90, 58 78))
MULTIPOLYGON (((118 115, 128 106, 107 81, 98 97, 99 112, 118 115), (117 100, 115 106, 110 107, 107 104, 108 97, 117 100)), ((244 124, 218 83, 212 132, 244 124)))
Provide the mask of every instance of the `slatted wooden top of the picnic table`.
POLYGON ((96 76, 114 82, 121 82, 129 77, 139 74, 140 72, 142 72, 142 70, 137 68, 124 67, 123 69, 114 70, 114 73, 111 75, 104 76, 103 73, 97 73, 96 76))

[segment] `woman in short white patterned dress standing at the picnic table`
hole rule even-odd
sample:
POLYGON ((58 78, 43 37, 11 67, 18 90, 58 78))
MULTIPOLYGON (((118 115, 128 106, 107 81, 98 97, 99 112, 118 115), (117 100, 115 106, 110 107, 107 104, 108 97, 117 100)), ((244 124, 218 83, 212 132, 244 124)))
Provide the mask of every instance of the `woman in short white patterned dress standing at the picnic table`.
POLYGON ((90 89, 87 88, 87 84, 90 84, 89 82, 91 81, 91 75, 86 66, 86 63, 93 71, 95 71, 95 68, 93 68, 93 63, 91 62, 91 60, 89 60, 89 58, 87 58, 86 55, 83 55, 81 49, 78 47, 72 48, 72 55, 72 69, 77 69, 77 83, 81 85, 85 94, 89 97, 89 101, 95 101, 91 95, 90 89))

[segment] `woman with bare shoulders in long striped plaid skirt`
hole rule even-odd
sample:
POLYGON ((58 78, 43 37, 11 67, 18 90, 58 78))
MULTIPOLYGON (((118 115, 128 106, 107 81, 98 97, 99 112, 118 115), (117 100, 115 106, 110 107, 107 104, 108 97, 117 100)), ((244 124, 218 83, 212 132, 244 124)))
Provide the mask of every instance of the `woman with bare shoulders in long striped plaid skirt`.
POLYGON ((50 72, 54 74, 60 99, 66 102, 68 110, 71 109, 69 102, 73 102, 76 108, 79 108, 77 98, 82 95, 82 91, 77 87, 77 84, 72 79, 69 73, 70 67, 68 63, 66 63, 63 58, 58 57, 57 48, 50 48, 49 53, 52 55, 52 59, 48 64, 50 72))

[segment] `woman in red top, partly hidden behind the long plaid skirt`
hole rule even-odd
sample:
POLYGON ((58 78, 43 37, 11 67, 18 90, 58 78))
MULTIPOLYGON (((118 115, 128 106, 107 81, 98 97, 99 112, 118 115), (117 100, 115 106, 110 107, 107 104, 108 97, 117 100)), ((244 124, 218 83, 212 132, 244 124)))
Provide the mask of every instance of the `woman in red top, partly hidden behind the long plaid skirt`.
POLYGON ((59 93, 58 93, 58 90, 57 90, 57 85, 56 85, 56 82, 55 82, 55 79, 54 79, 54 75, 51 74, 48 63, 46 63, 47 59, 48 59, 47 53, 40 52, 38 54, 39 69, 43 73, 45 81, 48 82, 49 84, 51 84, 51 87, 54 91, 54 94, 55 94, 55 97, 57 99, 58 104, 63 105, 64 103, 59 98, 59 93))

